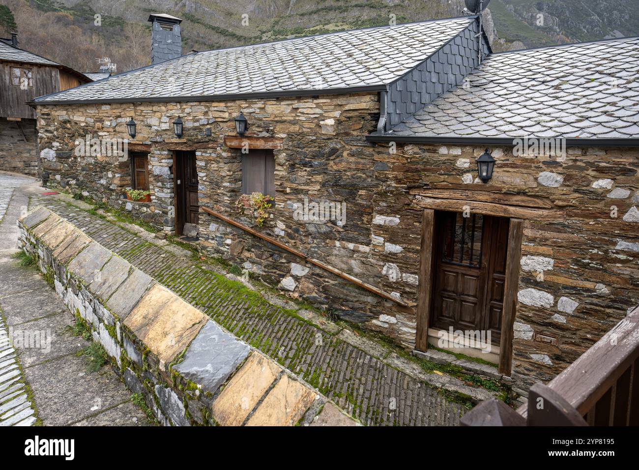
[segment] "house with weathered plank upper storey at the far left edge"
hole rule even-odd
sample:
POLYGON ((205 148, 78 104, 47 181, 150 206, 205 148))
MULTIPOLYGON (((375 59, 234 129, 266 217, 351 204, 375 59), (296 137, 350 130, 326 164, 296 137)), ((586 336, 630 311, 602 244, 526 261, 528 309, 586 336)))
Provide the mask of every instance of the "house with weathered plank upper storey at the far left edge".
POLYGON ((92 79, 18 47, 15 33, 0 38, 0 169, 38 174, 35 109, 27 101, 92 79))

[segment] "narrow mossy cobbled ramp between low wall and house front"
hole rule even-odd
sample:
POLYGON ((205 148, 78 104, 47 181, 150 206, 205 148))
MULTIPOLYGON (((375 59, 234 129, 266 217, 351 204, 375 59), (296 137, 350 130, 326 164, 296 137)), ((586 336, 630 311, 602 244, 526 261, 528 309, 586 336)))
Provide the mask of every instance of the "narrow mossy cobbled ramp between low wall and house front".
MULTIPOLYGON (((366 425, 456 425, 465 408, 437 389, 273 305, 194 256, 176 255, 56 198, 35 198, 298 374, 366 425)), ((166 242, 165 242, 166 243, 166 242)), ((173 248, 173 250, 171 249, 173 248)), ((183 250, 178 250, 183 251, 183 250)))

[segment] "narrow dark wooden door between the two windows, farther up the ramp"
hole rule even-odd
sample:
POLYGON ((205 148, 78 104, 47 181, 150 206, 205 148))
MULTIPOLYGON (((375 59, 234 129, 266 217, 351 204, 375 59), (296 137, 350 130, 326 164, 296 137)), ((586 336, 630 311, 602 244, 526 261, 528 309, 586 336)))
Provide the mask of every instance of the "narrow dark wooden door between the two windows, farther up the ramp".
POLYGON ((196 153, 176 150, 174 165, 175 191, 175 233, 181 235, 185 223, 198 222, 199 202, 197 199, 196 153))

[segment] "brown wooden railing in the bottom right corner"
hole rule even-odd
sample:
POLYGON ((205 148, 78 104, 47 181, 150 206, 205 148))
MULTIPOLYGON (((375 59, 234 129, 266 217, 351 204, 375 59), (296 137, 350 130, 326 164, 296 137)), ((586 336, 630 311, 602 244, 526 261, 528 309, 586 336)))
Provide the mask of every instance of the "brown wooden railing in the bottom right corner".
POLYGON ((581 354, 548 385, 530 388, 517 411, 486 400, 462 419, 465 426, 639 425, 639 307, 581 354))

